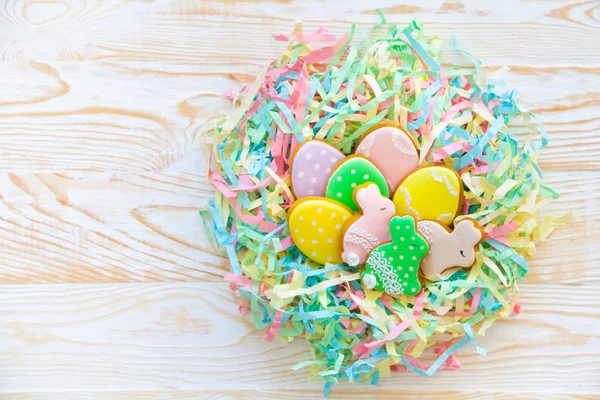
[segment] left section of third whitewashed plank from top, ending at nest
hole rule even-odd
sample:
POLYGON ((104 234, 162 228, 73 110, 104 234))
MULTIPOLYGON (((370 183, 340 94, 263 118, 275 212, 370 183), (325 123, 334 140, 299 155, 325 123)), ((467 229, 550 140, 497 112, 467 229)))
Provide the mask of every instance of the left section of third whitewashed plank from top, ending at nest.
POLYGON ((3 283, 220 281, 203 174, 2 174, 3 283))

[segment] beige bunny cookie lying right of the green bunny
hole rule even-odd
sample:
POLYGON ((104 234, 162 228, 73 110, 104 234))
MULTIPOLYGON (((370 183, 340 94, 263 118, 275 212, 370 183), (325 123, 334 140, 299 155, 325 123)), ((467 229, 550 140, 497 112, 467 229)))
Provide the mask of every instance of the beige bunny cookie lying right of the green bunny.
POLYGON ((421 274, 432 281, 457 268, 470 268, 475 263, 475 246, 483 238, 479 225, 470 219, 456 224, 454 231, 434 221, 420 221, 417 230, 429 242, 429 254, 421 262, 421 274))

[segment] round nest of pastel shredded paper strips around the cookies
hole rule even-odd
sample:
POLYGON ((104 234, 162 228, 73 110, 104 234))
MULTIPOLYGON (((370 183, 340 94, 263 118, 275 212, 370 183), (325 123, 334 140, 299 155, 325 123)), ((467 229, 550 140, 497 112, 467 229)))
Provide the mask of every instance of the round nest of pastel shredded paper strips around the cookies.
POLYGON ((274 39, 288 42, 285 53, 253 85, 227 93, 237 108, 205 133, 215 196, 201 215, 229 257, 225 279, 242 308, 265 340, 305 339, 311 357, 294 369, 323 379, 326 392, 340 380, 457 369, 456 352, 467 343, 485 354, 475 338, 518 313, 517 282, 535 243, 568 219, 539 215, 558 197, 537 165, 547 144, 542 126, 466 51, 457 48, 455 57, 473 67, 442 67, 441 41, 426 40, 416 22, 401 29, 382 20, 362 41, 354 27, 338 38, 325 28, 304 34, 300 24, 274 39), (322 139, 351 154, 378 124, 407 130, 421 164, 461 175, 457 220, 468 215, 486 233, 472 269, 416 297, 364 291, 360 270, 307 260, 286 224, 295 147, 322 139))

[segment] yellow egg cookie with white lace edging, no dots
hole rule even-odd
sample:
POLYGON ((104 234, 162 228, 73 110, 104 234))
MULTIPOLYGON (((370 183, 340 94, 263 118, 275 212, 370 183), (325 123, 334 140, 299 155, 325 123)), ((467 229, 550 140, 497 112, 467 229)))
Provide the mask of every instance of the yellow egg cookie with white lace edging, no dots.
POLYGON ((394 194, 398 215, 437 221, 446 226, 456 217, 462 197, 462 180, 453 169, 430 166, 408 175, 394 194))

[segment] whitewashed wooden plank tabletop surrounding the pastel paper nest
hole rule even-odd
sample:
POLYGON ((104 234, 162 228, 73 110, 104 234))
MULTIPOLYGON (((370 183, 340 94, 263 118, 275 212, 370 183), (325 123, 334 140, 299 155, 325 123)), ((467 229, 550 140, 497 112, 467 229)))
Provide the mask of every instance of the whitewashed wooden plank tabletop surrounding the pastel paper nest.
MULTIPOLYGON (((550 133, 541 166, 573 210, 540 246, 522 314, 463 367, 335 398, 600 396, 600 2, 7 0, 0 6, 0 398, 314 399, 237 311, 197 209, 198 134, 295 19, 340 33, 419 18, 508 65, 550 133)), ((444 61, 452 62, 451 58, 444 61)))

